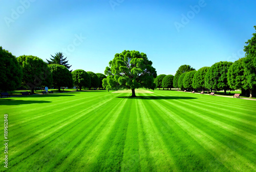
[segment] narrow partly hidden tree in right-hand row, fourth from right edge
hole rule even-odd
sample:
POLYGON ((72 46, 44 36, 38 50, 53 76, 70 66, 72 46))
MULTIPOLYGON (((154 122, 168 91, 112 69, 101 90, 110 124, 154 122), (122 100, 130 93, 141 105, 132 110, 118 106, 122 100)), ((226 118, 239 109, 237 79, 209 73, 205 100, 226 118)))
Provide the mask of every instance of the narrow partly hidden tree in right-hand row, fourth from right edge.
POLYGON ((193 84, 192 84, 194 89, 204 90, 206 88, 205 82, 204 82, 204 77, 209 69, 210 69, 210 67, 203 67, 203 68, 200 68, 197 71, 197 73, 195 73, 194 78, 193 78, 193 84))

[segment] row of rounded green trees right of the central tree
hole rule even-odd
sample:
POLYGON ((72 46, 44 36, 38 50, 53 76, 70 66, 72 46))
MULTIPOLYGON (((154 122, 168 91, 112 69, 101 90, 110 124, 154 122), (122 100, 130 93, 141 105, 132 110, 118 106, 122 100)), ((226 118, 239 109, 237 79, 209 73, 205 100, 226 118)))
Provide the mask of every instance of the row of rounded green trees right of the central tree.
MULTIPOLYGON (((254 26, 256 30, 256 26, 254 26)), ((203 67, 196 71, 189 65, 182 65, 175 76, 158 75, 155 78, 157 88, 180 88, 204 90, 227 90, 240 89, 248 91, 250 97, 256 89, 256 33, 244 46, 245 57, 234 62, 220 61, 211 67, 203 67), (173 83, 173 85, 172 85, 173 83)))

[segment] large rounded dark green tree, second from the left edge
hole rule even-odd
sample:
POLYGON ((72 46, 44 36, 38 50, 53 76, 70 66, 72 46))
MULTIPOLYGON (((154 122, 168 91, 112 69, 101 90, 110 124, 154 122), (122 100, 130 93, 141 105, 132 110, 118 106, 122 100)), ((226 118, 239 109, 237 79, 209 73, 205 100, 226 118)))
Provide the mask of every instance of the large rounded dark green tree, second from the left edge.
POLYGON ((47 63, 42 59, 32 55, 22 55, 17 58, 19 65, 23 70, 22 84, 34 93, 36 87, 52 85, 52 73, 47 66, 47 63))

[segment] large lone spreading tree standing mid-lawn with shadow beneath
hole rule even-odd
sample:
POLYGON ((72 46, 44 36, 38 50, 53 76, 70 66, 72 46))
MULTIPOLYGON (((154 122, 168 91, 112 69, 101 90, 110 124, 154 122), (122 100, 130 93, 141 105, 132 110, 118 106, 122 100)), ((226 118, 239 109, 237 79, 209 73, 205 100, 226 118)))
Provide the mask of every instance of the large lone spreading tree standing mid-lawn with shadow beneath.
POLYGON ((118 88, 131 89, 132 97, 136 97, 136 88, 156 88, 154 78, 157 77, 157 72, 145 53, 124 50, 115 54, 109 65, 105 70, 107 78, 103 79, 103 87, 108 91, 118 88))

